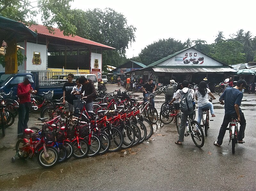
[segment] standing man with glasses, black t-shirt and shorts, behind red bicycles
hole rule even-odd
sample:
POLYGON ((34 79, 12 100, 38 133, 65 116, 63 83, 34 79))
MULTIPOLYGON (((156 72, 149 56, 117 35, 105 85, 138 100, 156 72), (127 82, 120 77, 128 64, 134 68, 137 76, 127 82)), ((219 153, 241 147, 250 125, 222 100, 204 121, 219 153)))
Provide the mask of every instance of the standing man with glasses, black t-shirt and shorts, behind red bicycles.
POLYGON ((67 117, 69 116, 69 112, 70 114, 74 112, 74 105, 73 105, 73 100, 71 98, 71 91, 73 87, 76 86, 76 83, 72 81, 73 79, 74 79, 74 75, 72 73, 68 74, 68 82, 66 82, 62 88, 63 104, 64 104, 64 107, 68 107, 68 109, 65 109, 67 117))

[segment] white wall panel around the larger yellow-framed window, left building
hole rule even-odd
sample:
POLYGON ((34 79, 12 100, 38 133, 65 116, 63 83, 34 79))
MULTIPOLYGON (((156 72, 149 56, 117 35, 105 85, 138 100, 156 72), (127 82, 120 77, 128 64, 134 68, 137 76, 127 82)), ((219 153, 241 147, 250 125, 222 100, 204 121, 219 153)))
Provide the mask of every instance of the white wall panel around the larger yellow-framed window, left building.
POLYGON ((27 42, 27 65, 26 70, 46 70, 46 45, 27 42), (34 52, 40 52, 41 64, 33 64, 34 52))

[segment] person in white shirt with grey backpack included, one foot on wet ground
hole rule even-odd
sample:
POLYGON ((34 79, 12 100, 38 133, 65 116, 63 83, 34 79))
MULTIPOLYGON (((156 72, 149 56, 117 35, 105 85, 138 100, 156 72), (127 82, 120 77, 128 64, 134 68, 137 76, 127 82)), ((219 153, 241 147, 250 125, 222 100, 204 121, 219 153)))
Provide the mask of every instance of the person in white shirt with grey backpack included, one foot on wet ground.
POLYGON ((176 96, 172 99, 169 104, 172 104, 176 99, 180 99, 180 111, 181 113, 181 121, 180 121, 180 135, 178 141, 175 141, 175 144, 182 145, 184 141, 184 133, 186 129, 186 122, 188 116, 193 118, 193 102, 195 91, 193 89, 189 89, 189 83, 187 80, 184 80, 181 84, 182 90, 178 91, 176 96))

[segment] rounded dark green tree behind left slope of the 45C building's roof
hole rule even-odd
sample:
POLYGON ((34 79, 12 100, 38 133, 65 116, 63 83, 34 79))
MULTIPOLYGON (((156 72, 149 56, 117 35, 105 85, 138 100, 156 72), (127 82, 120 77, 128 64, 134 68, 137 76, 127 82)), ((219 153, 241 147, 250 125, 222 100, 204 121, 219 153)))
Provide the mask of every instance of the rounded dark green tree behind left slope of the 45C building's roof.
POLYGON ((167 40, 160 39, 158 42, 149 44, 141 50, 139 57, 141 63, 149 65, 184 48, 185 46, 181 41, 174 40, 173 38, 167 40))

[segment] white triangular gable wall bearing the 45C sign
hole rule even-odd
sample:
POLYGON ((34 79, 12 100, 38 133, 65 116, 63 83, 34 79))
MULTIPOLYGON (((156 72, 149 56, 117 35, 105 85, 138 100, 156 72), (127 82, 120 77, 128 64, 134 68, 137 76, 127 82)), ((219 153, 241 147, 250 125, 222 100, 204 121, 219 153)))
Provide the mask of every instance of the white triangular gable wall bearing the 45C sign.
POLYGON ((181 52, 180 54, 165 60, 164 62, 158 64, 158 66, 177 66, 177 65, 184 65, 184 66, 222 66, 221 63, 213 60, 212 58, 202 54, 201 52, 196 51, 195 49, 188 49, 184 52, 181 52), (193 64, 193 62, 190 62, 189 64, 184 64, 184 60, 189 60, 190 58, 195 58, 198 60, 199 57, 204 57, 204 60, 198 61, 198 64, 193 64), (179 61, 179 59, 181 61, 179 61), (202 63, 203 62, 203 63, 202 63))

